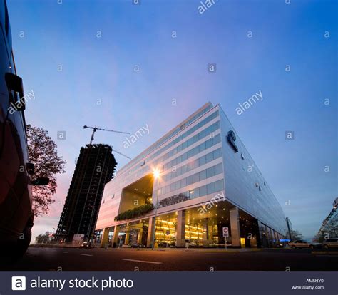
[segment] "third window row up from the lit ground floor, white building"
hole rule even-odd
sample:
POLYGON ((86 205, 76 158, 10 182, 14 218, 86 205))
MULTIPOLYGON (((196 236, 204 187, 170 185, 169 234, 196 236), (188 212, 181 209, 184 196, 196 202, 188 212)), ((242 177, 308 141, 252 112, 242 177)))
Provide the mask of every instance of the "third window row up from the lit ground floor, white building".
POLYGON ((212 152, 209 152, 207 155, 203 155, 202 157, 199 157, 196 160, 193 160, 189 162, 186 165, 183 165, 182 167, 178 167, 177 170, 173 172, 169 172, 166 175, 163 175, 162 180, 163 181, 169 181, 174 179, 175 177, 178 177, 180 175, 183 175, 186 172, 189 172, 197 167, 203 166, 208 162, 211 162, 212 160, 215 160, 219 157, 222 157, 222 149, 217 148, 217 150, 214 150, 212 152))

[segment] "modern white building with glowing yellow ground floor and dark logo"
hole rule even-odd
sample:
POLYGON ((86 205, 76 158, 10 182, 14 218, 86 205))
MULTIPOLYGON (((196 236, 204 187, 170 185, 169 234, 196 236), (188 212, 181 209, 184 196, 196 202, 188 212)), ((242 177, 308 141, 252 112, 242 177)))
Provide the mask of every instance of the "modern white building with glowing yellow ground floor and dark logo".
POLYGON ((222 108, 206 103, 106 184, 96 233, 113 247, 224 247, 224 227, 232 247, 274 247, 287 232, 222 108))

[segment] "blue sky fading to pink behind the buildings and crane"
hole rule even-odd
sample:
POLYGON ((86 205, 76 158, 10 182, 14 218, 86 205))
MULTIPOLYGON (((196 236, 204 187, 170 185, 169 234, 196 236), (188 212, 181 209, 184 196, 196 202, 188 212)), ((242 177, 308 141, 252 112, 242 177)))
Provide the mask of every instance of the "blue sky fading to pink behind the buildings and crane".
POLYGON ((128 148, 124 135, 96 132, 94 143, 135 157, 208 101, 225 110, 293 228, 317 233, 338 197, 337 1, 219 0, 202 14, 198 0, 7 2, 16 70, 36 97, 26 121, 48 130, 67 161, 33 237, 58 225, 91 137, 83 125, 148 125, 128 148))

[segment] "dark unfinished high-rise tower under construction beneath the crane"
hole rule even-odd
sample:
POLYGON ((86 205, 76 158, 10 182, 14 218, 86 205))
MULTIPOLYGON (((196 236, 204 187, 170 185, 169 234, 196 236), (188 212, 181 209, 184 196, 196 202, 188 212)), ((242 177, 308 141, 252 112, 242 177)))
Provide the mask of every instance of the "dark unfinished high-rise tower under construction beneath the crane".
POLYGON ((73 240, 74 234, 89 240, 98 217, 104 186, 113 177, 116 160, 109 145, 81 148, 66 202, 58 223, 58 240, 73 240))

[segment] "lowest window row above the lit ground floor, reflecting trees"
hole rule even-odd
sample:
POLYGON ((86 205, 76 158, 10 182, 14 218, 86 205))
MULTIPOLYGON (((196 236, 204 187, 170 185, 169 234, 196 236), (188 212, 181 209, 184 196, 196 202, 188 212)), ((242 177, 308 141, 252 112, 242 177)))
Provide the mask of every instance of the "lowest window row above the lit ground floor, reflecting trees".
POLYGON ((224 190, 224 180, 217 180, 215 182, 208 183, 208 185, 195 187, 193 190, 180 192, 178 195, 160 200, 157 207, 159 208, 174 205, 180 202, 195 199, 196 197, 203 197, 205 195, 214 194, 215 192, 221 192, 222 190, 224 190))

